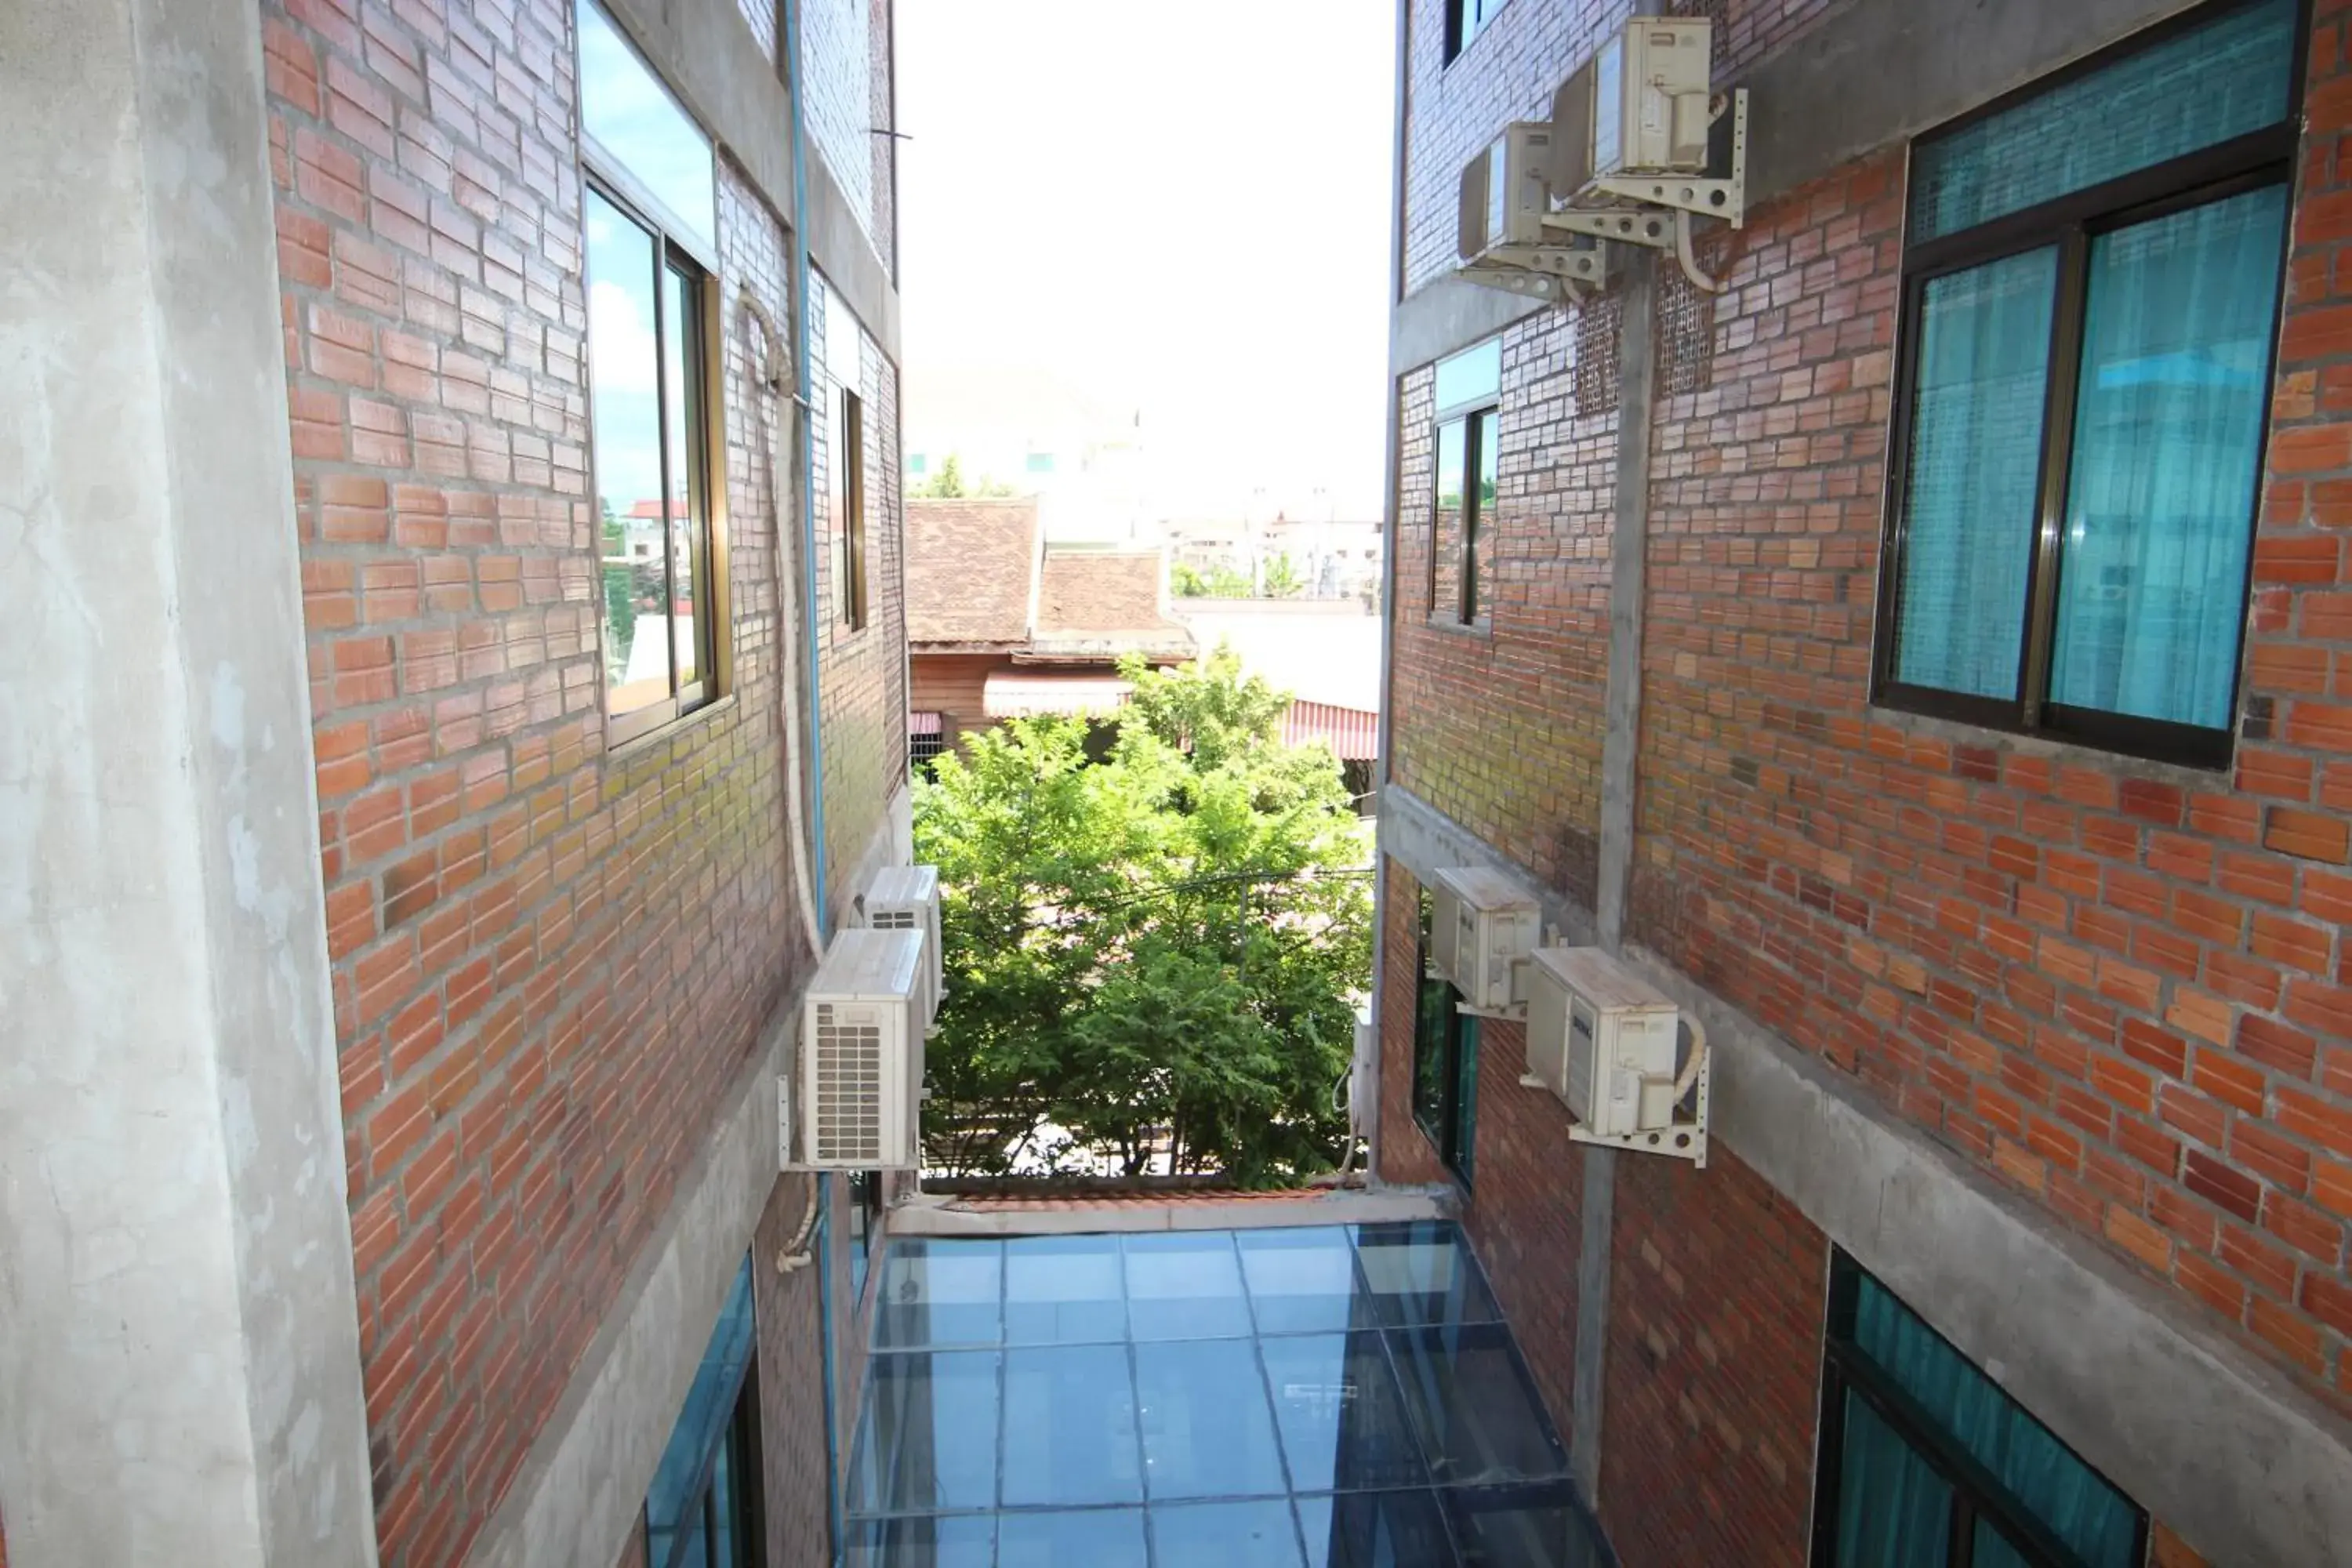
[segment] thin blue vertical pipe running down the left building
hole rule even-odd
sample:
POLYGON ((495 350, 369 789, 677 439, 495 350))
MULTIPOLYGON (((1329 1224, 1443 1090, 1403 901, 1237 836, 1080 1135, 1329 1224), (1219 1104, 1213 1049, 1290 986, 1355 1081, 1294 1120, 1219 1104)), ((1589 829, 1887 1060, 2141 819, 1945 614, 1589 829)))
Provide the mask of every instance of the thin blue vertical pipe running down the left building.
MULTIPOLYGON (((821 719, 823 703, 818 698, 821 679, 816 672, 816 625, 823 616, 816 604, 816 440, 809 428, 809 421, 816 416, 816 381, 809 374, 809 132, 800 101, 800 0, 783 0, 781 9, 783 71, 793 99, 793 386, 800 400, 793 468, 797 470, 795 480, 800 489, 800 578, 807 609, 800 621, 809 656, 809 860, 816 867, 816 919, 823 933, 833 929, 833 905, 826 898, 826 731, 821 719)), ((776 545, 783 545, 781 529, 776 545)), ((795 853, 797 849, 795 844, 795 853)), ((835 1415, 840 1392, 833 1375, 833 1178, 811 1175, 811 1180, 818 1190, 816 1326, 826 1361, 826 1535, 833 1542, 833 1563, 840 1568, 847 1542, 842 1540, 842 1441, 840 1418, 835 1415)))

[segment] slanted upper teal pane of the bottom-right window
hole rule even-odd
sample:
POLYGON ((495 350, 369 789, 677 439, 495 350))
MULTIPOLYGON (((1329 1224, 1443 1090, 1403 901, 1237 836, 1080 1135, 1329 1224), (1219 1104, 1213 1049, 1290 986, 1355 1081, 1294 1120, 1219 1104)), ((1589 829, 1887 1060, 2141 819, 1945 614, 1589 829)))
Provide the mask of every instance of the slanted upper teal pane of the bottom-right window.
POLYGON ((2129 1568, 2138 1507, 1879 1281, 1863 1274, 1858 1286, 1853 1342, 1863 1354, 2091 1568, 2129 1568))

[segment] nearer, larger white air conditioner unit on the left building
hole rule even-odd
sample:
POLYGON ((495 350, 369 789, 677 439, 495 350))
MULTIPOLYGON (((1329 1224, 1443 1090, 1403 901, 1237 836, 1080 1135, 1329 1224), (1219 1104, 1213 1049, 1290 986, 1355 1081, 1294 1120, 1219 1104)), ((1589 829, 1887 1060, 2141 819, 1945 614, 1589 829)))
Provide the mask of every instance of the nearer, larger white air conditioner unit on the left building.
POLYGON ((800 1018, 795 1168, 891 1171, 920 1164, 922 931, 849 929, 833 938, 800 1018))

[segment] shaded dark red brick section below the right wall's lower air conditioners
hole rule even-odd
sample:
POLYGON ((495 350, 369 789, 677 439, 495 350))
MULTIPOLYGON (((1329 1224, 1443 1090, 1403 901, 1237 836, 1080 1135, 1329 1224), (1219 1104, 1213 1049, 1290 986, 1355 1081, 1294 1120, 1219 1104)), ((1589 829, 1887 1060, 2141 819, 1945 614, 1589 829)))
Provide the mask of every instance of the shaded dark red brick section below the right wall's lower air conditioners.
POLYGON ((1599 1512, 1628 1568, 1806 1561, 1828 1269, 1722 1143, 1618 1157, 1599 1512))

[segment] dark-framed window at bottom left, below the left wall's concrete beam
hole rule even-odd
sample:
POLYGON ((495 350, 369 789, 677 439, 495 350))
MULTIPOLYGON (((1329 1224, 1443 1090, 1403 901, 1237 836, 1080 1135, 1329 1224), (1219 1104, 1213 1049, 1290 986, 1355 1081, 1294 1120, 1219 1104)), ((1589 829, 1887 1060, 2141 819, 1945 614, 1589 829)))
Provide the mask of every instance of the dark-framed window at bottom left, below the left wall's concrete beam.
POLYGON ((760 1368, 750 1258, 694 1371, 687 1406, 644 1495, 647 1568, 764 1568, 760 1521, 760 1368))

